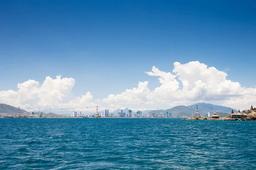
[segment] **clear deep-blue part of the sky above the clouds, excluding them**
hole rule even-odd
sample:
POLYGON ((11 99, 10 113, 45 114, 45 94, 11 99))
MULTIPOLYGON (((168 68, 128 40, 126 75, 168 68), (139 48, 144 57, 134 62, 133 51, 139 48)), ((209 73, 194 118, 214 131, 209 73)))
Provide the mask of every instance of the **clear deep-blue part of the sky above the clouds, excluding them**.
POLYGON ((256 2, 237 0, 2 0, 0 91, 56 75, 94 99, 149 81, 156 66, 199 61, 256 85, 256 2))

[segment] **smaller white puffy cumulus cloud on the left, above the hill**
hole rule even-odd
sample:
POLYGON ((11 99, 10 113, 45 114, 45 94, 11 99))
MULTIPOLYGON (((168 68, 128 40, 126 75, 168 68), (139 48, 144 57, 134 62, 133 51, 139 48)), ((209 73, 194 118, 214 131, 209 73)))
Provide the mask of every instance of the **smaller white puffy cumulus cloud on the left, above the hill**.
POLYGON ((90 92, 81 97, 73 96, 71 91, 74 85, 75 79, 61 79, 61 75, 56 76, 55 79, 46 77, 42 85, 29 79, 17 85, 18 91, 0 91, 0 101, 24 108, 86 107, 92 101, 93 96, 90 92))

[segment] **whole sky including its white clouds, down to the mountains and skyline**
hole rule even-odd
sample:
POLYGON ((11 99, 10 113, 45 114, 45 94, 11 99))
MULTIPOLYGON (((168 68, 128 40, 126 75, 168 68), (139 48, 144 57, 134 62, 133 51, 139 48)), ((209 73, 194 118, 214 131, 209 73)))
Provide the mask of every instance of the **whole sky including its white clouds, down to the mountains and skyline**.
POLYGON ((246 109, 256 104, 255 3, 231 2, 1 1, 0 102, 246 109))

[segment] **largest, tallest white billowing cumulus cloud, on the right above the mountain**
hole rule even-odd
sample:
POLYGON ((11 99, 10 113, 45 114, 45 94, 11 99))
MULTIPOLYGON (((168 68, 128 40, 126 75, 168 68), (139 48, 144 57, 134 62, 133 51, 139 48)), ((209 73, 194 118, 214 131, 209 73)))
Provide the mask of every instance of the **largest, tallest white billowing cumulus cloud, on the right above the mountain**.
POLYGON ((177 103, 186 105, 192 102, 224 100, 223 105, 243 108, 256 103, 253 94, 256 88, 241 87, 239 82, 227 79, 227 73, 204 63, 192 61, 186 64, 174 63, 172 72, 160 71, 153 66, 145 72, 149 76, 159 77, 160 87, 148 88, 148 82, 140 82, 138 88, 127 89, 122 94, 109 95, 103 102, 131 103, 165 103, 174 106, 177 103), (179 81, 182 83, 180 85, 179 81), (246 100, 246 101, 245 101, 246 100))

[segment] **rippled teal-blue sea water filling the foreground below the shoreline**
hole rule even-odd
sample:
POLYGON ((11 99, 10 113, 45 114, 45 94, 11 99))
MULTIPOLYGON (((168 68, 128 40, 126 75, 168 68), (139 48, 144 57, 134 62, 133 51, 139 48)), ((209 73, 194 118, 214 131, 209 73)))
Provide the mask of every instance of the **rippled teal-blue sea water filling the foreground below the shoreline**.
POLYGON ((2 170, 256 170, 256 122, 0 119, 2 170))

